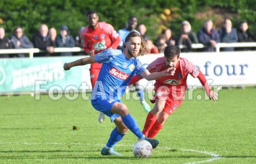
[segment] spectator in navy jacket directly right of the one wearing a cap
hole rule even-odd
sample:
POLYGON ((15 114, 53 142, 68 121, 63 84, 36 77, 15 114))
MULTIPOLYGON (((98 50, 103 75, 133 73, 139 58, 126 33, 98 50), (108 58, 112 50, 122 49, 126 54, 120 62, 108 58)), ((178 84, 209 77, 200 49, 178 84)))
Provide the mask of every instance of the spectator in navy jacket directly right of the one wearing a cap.
POLYGON ((204 21, 204 27, 202 27, 197 34, 199 43, 208 46, 203 48, 203 51, 215 51, 215 46, 221 41, 218 32, 212 27, 212 20, 207 19, 204 21))

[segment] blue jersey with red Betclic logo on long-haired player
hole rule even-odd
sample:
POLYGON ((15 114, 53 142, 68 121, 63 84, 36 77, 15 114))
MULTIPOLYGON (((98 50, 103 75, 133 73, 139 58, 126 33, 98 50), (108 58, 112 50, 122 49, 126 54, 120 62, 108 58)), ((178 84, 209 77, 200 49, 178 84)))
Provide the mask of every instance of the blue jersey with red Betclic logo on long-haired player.
POLYGON ((121 50, 107 49, 94 55, 95 61, 103 63, 93 89, 91 99, 121 99, 134 74, 145 71, 138 58, 128 59, 121 50))

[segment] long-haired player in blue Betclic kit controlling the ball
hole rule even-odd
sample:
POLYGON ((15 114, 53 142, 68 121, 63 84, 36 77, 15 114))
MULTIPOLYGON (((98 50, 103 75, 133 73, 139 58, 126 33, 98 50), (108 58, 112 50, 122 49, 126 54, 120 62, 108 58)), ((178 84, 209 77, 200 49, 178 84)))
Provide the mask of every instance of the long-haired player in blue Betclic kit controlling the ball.
POLYGON ((64 70, 69 70, 74 66, 94 62, 103 63, 93 88, 91 104, 96 110, 109 116, 111 121, 116 124, 116 128, 113 129, 108 142, 102 148, 102 155, 121 155, 113 150, 113 147, 124 137, 128 129, 139 140, 149 141, 153 148, 157 147, 159 143, 158 140, 150 139, 142 133, 135 119, 129 114, 127 106, 121 101, 121 96, 125 93, 125 89, 134 74, 150 81, 175 73, 174 68, 168 68, 158 73, 150 73, 146 70, 140 60, 136 58, 146 51, 146 43, 142 37, 136 32, 131 32, 125 39, 123 51, 107 49, 94 56, 64 64, 64 70))

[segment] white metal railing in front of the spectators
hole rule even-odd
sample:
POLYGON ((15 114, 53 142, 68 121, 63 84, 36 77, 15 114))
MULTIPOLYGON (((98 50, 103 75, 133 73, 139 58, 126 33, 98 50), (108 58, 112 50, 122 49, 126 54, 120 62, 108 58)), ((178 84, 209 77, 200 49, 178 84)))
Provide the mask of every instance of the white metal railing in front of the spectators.
MULTIPOLYGON (((187 46, 181 45, 180 48, 186 48, 187 46)), ((192 48, 206 48, 203 44, 192 44, 192 48)), ((223 47, 256 47, 256 42, 239 42, 239 43, 217 43, 215 46, 216 52, 219 52, 223 47)), ((54 52, 83 52, 83 48, 54 48, 54 52)), ((23 48, 23 49, 0 49, 1 54, 29 54, 30 58, 34 57, 34 53, 46 52, 45 50, 39 50, 38 48, 23 48)))

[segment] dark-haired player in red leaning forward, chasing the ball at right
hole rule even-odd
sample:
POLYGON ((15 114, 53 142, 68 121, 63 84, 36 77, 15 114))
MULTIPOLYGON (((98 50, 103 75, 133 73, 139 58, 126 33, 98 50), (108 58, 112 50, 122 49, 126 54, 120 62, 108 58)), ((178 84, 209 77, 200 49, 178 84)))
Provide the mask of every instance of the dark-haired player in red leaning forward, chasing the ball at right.
MULTIPOLYGON (((161 58, 157 58, 148 65, 150 73, 160 72, 170 67, 175 67, 173 76, 163 77, 155 81, 155 95, 151 102, 155 102, 154 108, 148 113, 143 128, 143 134, 149 138, 155 135, 163 128, 165 121, 181 104, 185 90, 187 89, 188 74, 198 78, 202 83, 206 94, 213 101, 217 100, 218 94, 212 91, 206 81, 206 78, 191 62, 180 56, 180 48, 177 46, 167 46, 161 58)), ((138 75, 134 76, 129 85, 139 81, 138 75)))

